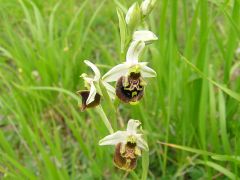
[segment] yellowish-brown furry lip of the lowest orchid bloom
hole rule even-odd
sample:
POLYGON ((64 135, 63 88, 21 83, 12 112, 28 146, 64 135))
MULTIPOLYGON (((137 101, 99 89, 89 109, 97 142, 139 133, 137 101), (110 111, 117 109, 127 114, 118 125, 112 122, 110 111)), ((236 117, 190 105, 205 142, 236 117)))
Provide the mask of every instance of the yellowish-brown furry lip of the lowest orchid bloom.
POLYGON ((136 143, 128 142, 125 147, 122 143, 116 145, 114 154, 114 164, 125 171, 131 171, 136 168, 138 155, 135 153, 136 143), (124 151, 122 151, 124 149, 124 151))

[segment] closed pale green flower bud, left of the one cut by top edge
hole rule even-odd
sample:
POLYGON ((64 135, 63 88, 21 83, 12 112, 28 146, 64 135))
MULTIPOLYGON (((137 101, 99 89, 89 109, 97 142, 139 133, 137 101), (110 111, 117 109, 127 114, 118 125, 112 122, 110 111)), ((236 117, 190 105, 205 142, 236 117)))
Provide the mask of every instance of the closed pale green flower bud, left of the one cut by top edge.
POLYGON ((130 29, 136 28, 141 22, 141 10, 138 3, 134 3, 125 17, 126 23, 130 29))

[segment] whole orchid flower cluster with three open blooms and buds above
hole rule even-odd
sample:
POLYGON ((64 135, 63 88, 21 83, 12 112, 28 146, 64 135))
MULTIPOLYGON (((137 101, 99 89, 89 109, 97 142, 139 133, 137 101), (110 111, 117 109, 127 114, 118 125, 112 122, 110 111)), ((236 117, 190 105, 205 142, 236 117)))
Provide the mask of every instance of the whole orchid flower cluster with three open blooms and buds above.
MULTIPOLYGON (((126 56, 125 62, 112 67, 101 77, 95 64, 88 60, 84 61, 95 75, 93 77, 85 73, 81 75, 86 88, 78 91, 82 97, 82 111, 100 106, 104 95, 109 96, 111 100, 118 98, 121 102, 128 104, 136 104, 142 99, 147 85, 146 79, 156 77, 156 72, 147 66, 148 62, 140 61, 146 47, 158 39, 153 32, 144 27, 145 20, 155 2, 156 0, 144 0, 141 5, 134 3, 127 11, 125 18, 123 18, 123 11, 118 10, 121 47, 123 50, 127 49, 126 52, 123 51, 126 56), (116 82, 115 87, 110 85, 112 82, 116 82)), ((120 169, 133 170, 141 152, 148 151, 143 134, 137 130, 140 125, 140 121, 130 119, 126 131, 116 131, 99 141, 99 145, 115 146, 114 163, 120 169)))

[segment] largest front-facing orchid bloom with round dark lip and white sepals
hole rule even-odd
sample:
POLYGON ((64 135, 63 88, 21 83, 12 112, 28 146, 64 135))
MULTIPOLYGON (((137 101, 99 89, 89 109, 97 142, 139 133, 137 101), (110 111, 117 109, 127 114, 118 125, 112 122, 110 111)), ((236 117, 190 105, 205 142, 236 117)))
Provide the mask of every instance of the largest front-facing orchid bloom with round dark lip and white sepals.
POLYGON ((117 81, 116 95, 123 102, 138 102, 143 97, 146 85, 144 78, 156 77, 156 72, 147 66, 147 62, 138 60, 145 45, 157 39, 157 36, 148 30, 134 32, 133 41, 126 54, 126 62, 113 67, 103 76, 105 82, 117 81))

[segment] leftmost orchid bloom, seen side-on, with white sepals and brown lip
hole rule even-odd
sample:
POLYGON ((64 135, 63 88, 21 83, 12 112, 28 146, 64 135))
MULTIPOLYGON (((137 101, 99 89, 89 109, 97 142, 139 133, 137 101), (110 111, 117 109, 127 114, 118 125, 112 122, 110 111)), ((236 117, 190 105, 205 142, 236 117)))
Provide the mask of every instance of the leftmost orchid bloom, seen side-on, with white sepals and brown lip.
MULTIPOLYGON (((85 81, 85 87, 87 88, 87 90, 81 90, 77 92, 82 97, 82 107, 81 107, 82 111, 85 110, 86 108, 95 107, 99 105, 101 94, 102 94, 101 89, 99 87, 99 81, 101 78, 99 69, 95 64, 91 63, 88 60, 85 60, 84 63, 93 70, 95 75, 94 77, 89 77, 85 73, 81 75, 81 77, 85 81)), ((105 86, 109 96, 111 98, 114 98, 115 89, 107 82, 102 81, 102 83, 105 86)))

